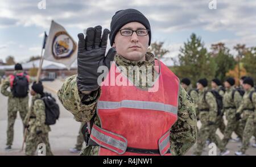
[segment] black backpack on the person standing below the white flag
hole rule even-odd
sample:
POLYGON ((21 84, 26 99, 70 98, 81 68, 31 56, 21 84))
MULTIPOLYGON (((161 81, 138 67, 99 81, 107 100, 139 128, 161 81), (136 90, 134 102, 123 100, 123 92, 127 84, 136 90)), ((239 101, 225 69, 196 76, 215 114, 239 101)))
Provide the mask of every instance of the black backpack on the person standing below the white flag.
POLYGON ((56 103, 56 99, 52 97, 49 93, 44 93, 42 97, 44 104, 46 105, 46 122, 47 125, 52 125, 56 123, 56 120, 60 116, 60 108, 56 103))

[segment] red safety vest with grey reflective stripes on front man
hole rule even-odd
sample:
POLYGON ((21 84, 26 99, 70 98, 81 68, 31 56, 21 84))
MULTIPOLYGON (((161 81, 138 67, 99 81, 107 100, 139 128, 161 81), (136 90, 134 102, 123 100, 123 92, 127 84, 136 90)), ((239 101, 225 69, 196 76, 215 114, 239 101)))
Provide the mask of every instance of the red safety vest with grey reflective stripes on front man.
POLYGON ((93 125, 90 139, 100 145, 98 155, 171 155, 170 129, 177 120, 179 79, 162 62, 155 60, 159 72, 157 91, 134 86, 106 86, 120 69, 112 64, 109 80, 101 84, 97 115, 101 127, 93 125), (159 68, 158 68, 159 67, 159 68))

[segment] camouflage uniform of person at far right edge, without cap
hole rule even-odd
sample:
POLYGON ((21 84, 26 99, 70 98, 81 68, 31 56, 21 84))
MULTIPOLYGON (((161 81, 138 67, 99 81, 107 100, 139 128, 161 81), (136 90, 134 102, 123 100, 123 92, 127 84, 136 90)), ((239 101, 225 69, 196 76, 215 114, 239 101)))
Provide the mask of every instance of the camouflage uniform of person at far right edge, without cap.
POLYGON ((241 126, 244 126, 243 134, 242 134, 242 146, 239 151, 243 155, 245 154, 246 150, 249 147, 251 136, 254 135, 255 128, 256 128, 255 127, 256 126, 256 120, 255 120, 256 93, 253 93, 252 101, 251 101, 249 97, 251 91, 254 91, 254 87, 251 87, 249 90, 245 90, 245 94, 243 95, 241 105, 237 110, 237 114, 242 115, 241 126))

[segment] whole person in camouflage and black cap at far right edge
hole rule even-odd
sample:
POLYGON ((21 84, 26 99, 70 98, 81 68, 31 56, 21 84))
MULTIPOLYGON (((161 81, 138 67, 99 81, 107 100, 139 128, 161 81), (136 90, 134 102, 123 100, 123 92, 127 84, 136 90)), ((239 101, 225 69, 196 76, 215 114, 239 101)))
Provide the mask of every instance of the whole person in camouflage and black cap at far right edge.
POLYGON ((255 124, 255 107, 256 107, 256 92, 254 89, 253 78, 246 77, 243 80, 243 89, 245 94, 240 107, 236 112, 237 119, 241 118, 241 126, 243 126, 242 146, 235 154, 237 156, 245 155, 246 150, 249 148, 250 139, 254 135, 255 124))

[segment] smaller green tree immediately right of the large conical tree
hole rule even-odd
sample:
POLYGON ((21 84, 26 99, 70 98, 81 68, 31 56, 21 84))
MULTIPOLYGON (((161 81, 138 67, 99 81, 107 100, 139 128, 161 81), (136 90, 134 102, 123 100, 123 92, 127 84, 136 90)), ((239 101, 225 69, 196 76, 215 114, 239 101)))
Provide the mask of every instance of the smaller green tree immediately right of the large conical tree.
POLYGON ((221 82, 224 82, 226 73, 234 68, 236 61, 234 60, 233 55, 229 53, 230 50, 225 47, 224 43, 212 44, 211 49, 212 52, 210 52, 210 55, 217 65, 215 77, 220 79, 221 82))

